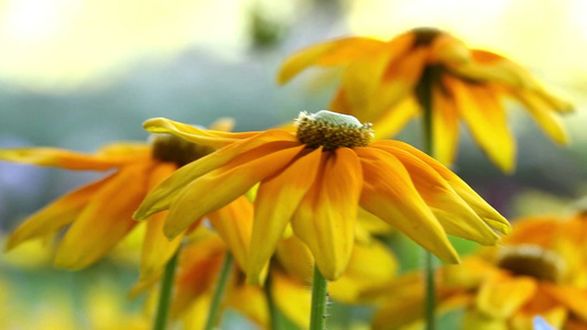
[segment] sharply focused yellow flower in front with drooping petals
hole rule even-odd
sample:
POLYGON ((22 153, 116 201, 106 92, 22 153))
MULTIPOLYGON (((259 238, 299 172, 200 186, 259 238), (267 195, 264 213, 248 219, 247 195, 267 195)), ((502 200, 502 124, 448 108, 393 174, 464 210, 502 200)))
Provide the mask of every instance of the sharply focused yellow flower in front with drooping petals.
POLYGON ((262 280, 289 223, 320 273, 330 280, 340 277, 359 206, 447 262, 458 262, 447 233, 492 245, 499 239, 492 228, 510 229, 449 169, 405 143, 371 143, 370 127, 350 116, 303 112, 295 134, 205 131, 166 119, 144 127, 219 147, 162 182, 137 211, 143 219, 169 209, 169 238, 260 183, 247 270, 251 283, 262 280))

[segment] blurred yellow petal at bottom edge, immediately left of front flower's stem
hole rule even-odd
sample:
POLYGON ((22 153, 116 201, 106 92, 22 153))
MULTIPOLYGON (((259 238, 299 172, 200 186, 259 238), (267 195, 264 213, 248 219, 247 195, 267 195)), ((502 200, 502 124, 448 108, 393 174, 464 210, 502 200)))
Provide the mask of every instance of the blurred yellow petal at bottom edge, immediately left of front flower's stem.
POLYGON ((273 271, 271 276, 271 292, 280 311, 301 329, 308 329, 311 290, 304 283, 281 272, 273 271))

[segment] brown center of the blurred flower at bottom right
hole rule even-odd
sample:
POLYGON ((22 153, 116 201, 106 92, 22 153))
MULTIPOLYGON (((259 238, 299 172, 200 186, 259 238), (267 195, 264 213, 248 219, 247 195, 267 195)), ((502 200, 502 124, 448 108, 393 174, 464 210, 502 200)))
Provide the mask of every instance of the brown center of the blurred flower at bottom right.
POLYGON ((559 280, 565 268, 558 254, 537 245, 504 248, 498 257, 498 265, 514 275, 526 275, 548 282, 559 280))

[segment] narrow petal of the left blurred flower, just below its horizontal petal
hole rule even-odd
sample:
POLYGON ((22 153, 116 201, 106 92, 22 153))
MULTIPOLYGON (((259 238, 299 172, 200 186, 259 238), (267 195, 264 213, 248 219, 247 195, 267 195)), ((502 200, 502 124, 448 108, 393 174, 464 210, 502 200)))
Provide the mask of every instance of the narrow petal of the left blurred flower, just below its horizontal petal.
POLYGON ((59 228, 75 221, 95 194, 108 185, 113 176, 116 175, 69 193, 32 215, 10 235, 7 250, 24 241, 55 233, 59 228))

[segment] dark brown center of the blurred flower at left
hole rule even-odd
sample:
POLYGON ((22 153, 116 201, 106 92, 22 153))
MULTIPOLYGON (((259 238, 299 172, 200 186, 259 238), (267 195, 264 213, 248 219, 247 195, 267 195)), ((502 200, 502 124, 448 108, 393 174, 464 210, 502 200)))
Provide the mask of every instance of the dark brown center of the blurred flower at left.
POLYGON ((153 158, 163 162, 173 162, 178 167, 215 151, 213 147, 198 145, 175 135, 164 133, 151 135, 151 143, 153 145, 153 158))

